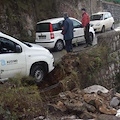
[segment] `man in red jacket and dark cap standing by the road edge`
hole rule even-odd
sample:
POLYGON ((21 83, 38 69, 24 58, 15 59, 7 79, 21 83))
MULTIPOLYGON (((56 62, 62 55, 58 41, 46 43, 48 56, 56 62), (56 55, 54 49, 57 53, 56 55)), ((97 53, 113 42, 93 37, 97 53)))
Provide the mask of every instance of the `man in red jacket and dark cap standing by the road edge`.
POLYGON ((89 47, 92 45, 92 41, 90 40, 90 36, 89 36, 90 18, 88 13, 86 13, 85 8, 82 8, 81 11, 82 11, 82 25, 84 27, 84 36, 87 44, 85 47, 89 47))

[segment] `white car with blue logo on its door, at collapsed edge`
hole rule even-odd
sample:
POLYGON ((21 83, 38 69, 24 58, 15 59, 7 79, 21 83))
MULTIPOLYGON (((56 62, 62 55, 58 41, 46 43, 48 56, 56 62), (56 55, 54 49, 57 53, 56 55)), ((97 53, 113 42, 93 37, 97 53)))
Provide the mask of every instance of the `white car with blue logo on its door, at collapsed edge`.
POLYGON ((20 73, 40 82, 53 69, 54 58, 47 49, 0 32, 0 81, 20 73))

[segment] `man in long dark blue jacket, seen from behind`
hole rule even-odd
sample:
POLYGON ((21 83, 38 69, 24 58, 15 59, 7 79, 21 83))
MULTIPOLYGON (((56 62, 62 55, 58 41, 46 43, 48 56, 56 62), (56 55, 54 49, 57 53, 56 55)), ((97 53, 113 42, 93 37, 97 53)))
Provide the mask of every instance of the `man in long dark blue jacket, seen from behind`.
POLYGON ((64 13, 64 21, 63 21, 63 31, 62 34, 64 35, 65 40, 65 48, 67 52, 73 51, 72 46, 72 39, 73 39, 73 22, 69 19, 68 14, 64 13))

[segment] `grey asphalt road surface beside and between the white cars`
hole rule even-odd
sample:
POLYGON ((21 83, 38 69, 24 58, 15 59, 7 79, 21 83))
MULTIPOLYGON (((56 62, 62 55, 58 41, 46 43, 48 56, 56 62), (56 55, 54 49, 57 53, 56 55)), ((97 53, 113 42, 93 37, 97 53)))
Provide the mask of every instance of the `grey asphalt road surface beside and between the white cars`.
MULTIPOLYGON (((115 31, 118 31, 118 30, 120 30, 120 23, 115 25, 115 31)), ((108 31, 106 31, 106 32, 110 32, 110 30, 108 30, 108 31)), ((106 32, 105 32, 105 33, 106 33, 106 32)), ((105 33, 104 33, 104 34, 105 34, 105 33)), ((95 38, 94 38, 94 40, 93 40, 93 46, 97 45, 97 37, 98 37, 100 34, 101 34, 101 33, 96 33, 95 38)), ((73 47, 73 51, 75 52, 75 51, 84 50, 84 49, 86 49, 86 48, 84 48, 84 46, 85 46, 85 42, 80 43, 79 46, 74 46, 74 47, 73 47)), ((67 54, 65 50, 62 50, 62 51, 60 51, 60 52, 55 52, 55 51, 51 51, 51 52, 52 52, 52 54, 53 54, 53 56, 54 56, 54 58, 55 58, 55 62, 60 61, 60 60, 61 60, 61 57, 63 57, 65 54, 67 54)))

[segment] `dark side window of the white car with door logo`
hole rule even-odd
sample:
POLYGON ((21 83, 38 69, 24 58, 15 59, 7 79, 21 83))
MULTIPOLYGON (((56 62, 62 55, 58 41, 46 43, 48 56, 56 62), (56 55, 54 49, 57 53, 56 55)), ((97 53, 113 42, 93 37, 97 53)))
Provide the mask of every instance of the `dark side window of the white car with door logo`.
POLYGON ((0 54, 2 53, 15 53, 16 52, 16 45, 14 42, 0 37, 0 54))

